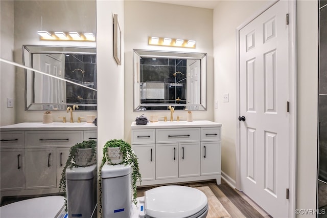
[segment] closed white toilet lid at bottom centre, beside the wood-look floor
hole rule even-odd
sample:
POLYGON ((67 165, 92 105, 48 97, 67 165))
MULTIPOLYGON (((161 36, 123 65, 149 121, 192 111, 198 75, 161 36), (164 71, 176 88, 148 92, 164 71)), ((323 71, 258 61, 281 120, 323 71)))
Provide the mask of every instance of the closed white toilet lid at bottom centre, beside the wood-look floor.
POLYGON ((161 186, 145 192, 145 213, 151 217, 189 217, 206 205, 205 194, 187 186, 161 186))

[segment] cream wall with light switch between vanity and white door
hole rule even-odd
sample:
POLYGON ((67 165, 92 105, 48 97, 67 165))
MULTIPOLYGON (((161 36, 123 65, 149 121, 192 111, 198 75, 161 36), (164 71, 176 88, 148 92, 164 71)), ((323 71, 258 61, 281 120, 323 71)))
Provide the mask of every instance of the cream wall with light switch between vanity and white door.
POLYGON ((222 123, 222 171, 236 179, 236 29, 266 1, 221 1, 214 10, 215 122, 222 123), (237 14, 237 16, 235 16, 237 14), (229 102, 223 94, 229 93, 229 102))

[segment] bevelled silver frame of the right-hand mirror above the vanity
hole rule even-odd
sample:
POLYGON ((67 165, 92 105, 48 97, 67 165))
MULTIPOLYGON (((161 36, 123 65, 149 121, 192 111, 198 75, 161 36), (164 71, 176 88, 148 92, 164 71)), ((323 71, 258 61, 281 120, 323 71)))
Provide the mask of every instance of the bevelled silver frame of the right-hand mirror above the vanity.
MULTIPOLYGON (((206 53, 193 53, 193 52, 174 52, 174 51, 155 51, 155 50, 142 50, 133 49, 133 111, 144 112, 141 110, 143 106, 162 107, 162 106, 193 106, 192 111, 206 111, 207 107, 207 54, 206 53), (136 85, 139 82, 139 58, 141 57, 155 57, 155 58, 176 58, 176 59, 197 59, 200 60, 201 68, 201 81, 200 81, 200 104, 142 104, 140 98, 140 86, 136 85)), ((186 88, 187 89, 187 88, 186 88)), ((168 109, 167 109, 168 110, 168 109)), ((151 110, 151 111, 164 111, 164 110, 151 110)))

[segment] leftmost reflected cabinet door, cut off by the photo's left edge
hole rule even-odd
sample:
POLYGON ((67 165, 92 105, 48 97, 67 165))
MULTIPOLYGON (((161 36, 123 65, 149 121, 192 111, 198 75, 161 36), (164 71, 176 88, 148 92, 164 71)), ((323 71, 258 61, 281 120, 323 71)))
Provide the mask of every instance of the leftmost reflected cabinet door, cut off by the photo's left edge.
POLYGON ((1 191, 25 189, 25 149, 1 149, 1 191))

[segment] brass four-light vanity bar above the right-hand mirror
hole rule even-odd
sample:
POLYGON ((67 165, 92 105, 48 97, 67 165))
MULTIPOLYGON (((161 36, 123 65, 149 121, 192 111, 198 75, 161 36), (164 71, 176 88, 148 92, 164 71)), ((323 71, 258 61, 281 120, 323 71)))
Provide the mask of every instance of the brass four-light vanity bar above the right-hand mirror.
POLYGON ((172 47, 184 47, 195 49, 195 40, 188 39, 175 39, 165 37, 149 37, 149 45, 153 46, 172 46, 172 47))

